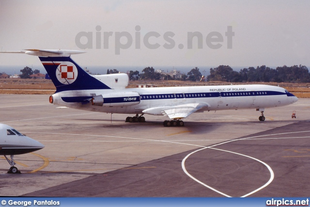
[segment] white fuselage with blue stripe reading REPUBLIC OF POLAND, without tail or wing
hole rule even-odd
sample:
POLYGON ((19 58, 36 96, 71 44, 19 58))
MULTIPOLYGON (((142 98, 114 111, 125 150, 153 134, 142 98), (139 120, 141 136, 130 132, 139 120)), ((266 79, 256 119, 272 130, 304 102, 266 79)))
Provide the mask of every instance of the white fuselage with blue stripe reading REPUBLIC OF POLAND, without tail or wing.
MULTIPOLYGON (((162 87, 162 88, 127 88, 106 90, 78 90, 64 91, 53 95, 53 103, 69 108, 107 113, 139 114, 150 108, 204 103, 199 111, 237 110, 237 109, 264 109, 292 104, 298 99, 284 88, 269 85, 222 85, 222 86, 189 86, 189 87, 162 87), (98 96, 109 93, 137 92, 140 103, 130 106, 95 106, 91 102, 65 102, 62 97, 98 96)), ((159 111, 160 111, 159 110, 159 111)), ((262 110, 263 111, 263 110, 262 110)), ((162 115, 151 112, 149 114, 162 115)))

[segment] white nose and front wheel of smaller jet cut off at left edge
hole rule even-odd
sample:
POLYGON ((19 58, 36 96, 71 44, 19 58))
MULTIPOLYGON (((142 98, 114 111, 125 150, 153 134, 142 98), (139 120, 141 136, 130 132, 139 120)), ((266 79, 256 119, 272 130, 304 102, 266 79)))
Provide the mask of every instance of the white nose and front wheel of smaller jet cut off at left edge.
POLYGON ((37 151, 44 148, 44 145, 19 133, 13 127, 5 124, 0 124, 0 155, 4 155, 5 159, 11 165, 8 173, 20 173, 14 166, 14 155, 21 155, 37 151), (11 160, 6 156, 11 155, 11 160))

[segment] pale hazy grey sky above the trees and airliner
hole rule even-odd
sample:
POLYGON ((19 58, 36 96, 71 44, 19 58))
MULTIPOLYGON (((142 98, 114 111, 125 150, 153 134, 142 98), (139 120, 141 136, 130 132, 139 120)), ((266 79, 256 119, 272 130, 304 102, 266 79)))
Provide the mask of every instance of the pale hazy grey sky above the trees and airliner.
MULTIPOLYGON (((72 56, 81 66, 310 67, 309 11, 309 0, 0 0, 0 50, 85 50, 72 56), (228 26, 234 32, 232 48, 225 34, 228 26), (93 48, 78 47, 80 32, 92 32, 88 33, 92 42, 85 35, 78 41, 93 48), (105 32, 111 33, 109 48, 104 48, 105 32), (132 37, 131 42, 126 36, 117 37, 124 32, 132 37), (195 37, 193 48, 188 48, 187 32, 202 34, 202 44, 195 37), (174 36, 165 37, 165 33, 174 36), (158 48, 144 44, 149 34, 149 44, 158 48), (207 45, 208 34, 222 36, 218 42, 211 39, 220 48, 207 45), (127 42, 129 46, 116 54, 116 48, 127 42)), ((35 56, 0 54, 0 67, 30 64, 41 65, 35 56)))

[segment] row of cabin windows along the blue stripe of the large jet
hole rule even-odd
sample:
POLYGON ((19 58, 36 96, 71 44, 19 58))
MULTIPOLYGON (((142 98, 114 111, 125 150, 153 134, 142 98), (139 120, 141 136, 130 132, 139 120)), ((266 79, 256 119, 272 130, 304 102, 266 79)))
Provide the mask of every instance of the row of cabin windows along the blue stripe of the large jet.
MULTIPOLYGON (((267 94, 267 92, 256 92, 257 95, 264 95, 267 94)), ((223 93, 223 96, 242 96, 242 95, 251 95, 251 92, 243 92, 243 93, 223 93)), ((252 92, 252 95, 255 95, 255 92, 252 92)), ((205 97, 206 94, 182 94, 182 95, 153 95, 153 96, 140 96, 142 99, 148 99, 148 98, 179 98, 179 97, 205 97)), ((211 93, 209 94, 211 96, 211 93)))

